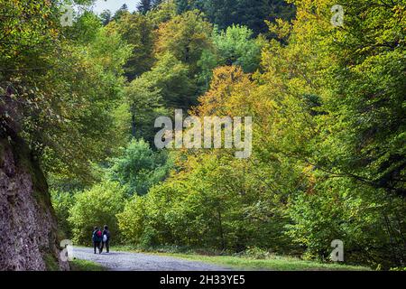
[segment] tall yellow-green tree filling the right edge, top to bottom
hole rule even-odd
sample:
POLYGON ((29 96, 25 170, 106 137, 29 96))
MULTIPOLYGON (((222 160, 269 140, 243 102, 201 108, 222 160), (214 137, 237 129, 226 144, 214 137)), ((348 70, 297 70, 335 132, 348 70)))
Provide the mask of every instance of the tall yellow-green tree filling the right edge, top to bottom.
POLYGON ((272 41, 263 53, 258 98, 270 107, 256 114, 257 123, 269 122, 258 139, 269 162, 292 163, 303 174, 291 189, 288 234, 309 256, 326 258, 328 240, 342 238, 347 259, 401 266, 403 128, 392 123, 404 86, 404 47, 393 33, 401 18, 394 7, 348 1, 345 28, 337 28, 329 2, 295 4, 297 22, 280 23, 278 32, 290 35, 289 44, 272 41))

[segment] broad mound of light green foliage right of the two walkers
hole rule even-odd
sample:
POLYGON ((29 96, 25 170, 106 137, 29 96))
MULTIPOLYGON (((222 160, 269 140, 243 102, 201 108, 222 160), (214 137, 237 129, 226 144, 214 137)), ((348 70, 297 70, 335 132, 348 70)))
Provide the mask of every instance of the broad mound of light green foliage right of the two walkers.
POLYGON ((286 221, 283 198, 270 198, 266 183, 253 180, 247 172, 254 166, 227 161, 229 156, 197 158, 189 169, 135 197, 118 216, 123 234, 146 247, 174 244, 232 252, 271 246, 282 251, 283 236, 275 233, 286 221))

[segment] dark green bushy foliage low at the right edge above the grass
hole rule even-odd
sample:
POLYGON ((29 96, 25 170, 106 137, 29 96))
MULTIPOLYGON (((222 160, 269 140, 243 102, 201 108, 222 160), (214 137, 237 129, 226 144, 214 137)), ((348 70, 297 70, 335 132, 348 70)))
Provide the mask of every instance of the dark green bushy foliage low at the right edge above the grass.
POLYGON ((404 259, 404 200, 385 191, 353 186, 342 178, 320 182, 313 193, 298 193, 292 200, 286 226, 294 241, 307 247, 306 258, 328 261, 331 241, 344 242, 347 264, 389 269, 404 259), (351 193, 349 193, 351 192, 351 193))

